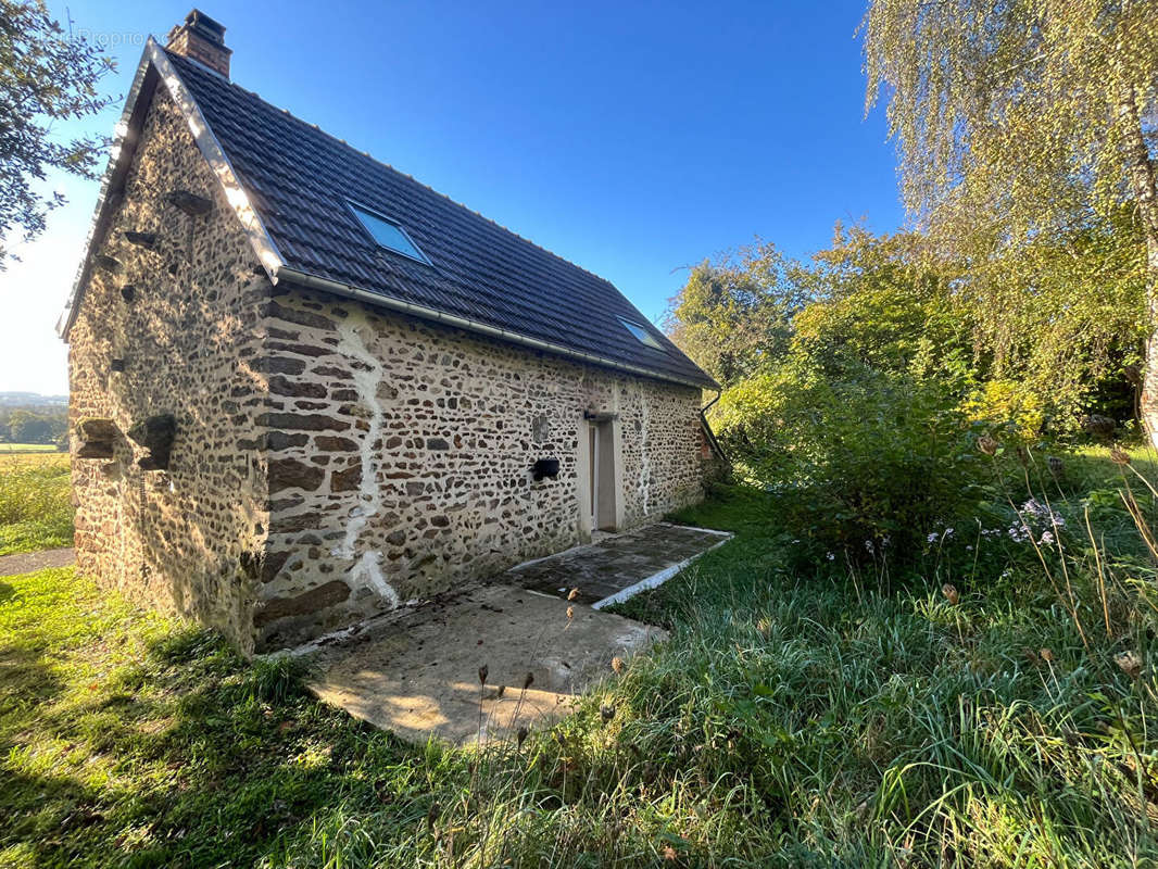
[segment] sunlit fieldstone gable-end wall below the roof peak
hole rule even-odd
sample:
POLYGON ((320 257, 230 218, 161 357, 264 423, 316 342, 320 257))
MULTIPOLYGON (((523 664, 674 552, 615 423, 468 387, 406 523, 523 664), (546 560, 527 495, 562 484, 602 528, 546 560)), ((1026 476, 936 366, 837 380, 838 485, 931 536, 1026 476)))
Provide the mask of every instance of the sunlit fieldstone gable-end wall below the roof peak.
POLYGON ((78 562, 104 587, 249 650, 269 511, 265 460, 243 441, 264 400, 270 284, 184 118, 163 86, 156 94, 97 250, 110 258, 68 335, 78 562), (210 198, 212 212, 185 213, 167 202, 176 190, 210 198), (144 470, 127 432, 159 414, 176 418, 169 467, 144 470), (113 422, 111 458, 79 458, 89 418, 113 422))

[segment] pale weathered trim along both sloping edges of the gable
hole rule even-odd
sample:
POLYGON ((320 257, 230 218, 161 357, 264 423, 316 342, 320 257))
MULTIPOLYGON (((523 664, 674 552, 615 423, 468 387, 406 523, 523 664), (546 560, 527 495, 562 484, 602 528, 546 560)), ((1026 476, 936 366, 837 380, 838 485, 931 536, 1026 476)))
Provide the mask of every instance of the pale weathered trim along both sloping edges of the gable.
POLYGON ((81 260, 80 270, 66 302, 65 311, 57 323, 57 333, 65 341, 68 341, 68 330, 76 320, 80 300, 91 272, 93 249, 102 240, 111 217, 109 191, 123 181, 124 175, 129 171, 131 160, 123 159, 126 156, 125 145, 132 144, 133 151, 135 151, 135 141, 132 141, 132 138, 139 131, 134 133, 130 129, 130 124, 132 116, 137 111, 137 103, 141 97, 144 83, 151 67, 156 70, 160 80, 164 82, 166 89, 169 92, 169 96, 177 104, 182 115, 184 115, 185 122, 189 124, 189 132, 192 134, 198 151, 201 152, 201 156, 208 163, 218 183, 221 184, 226 202, 241 221, 241 226, 254 248, 254 254, 257 256, 262 268, 265 269, 270 280, 274 279, 274 275, 277 275, 278 269, 283 265, 281 254, 265 229, 265 225, 262 222, 256 209, 254 209, 252 203, 250 203, 249 195, 241 185, 237 173, 234 171, 229 158, 226 156, 225 151, 221 148, 221 143, 214 136, 208 122, 197 105, 197 101, 181 79, 181 74, 169 60, 168 54, 164 53, 164 49, 151 36, 145 43, 145 51, 141 53, 133 86, 129 92, 129 98, 125 102, 120 122, 117 124, 117 138, 110 152, 109 166, 101 183, 101 192, 96 200, 96 213, 93 217, 93 226, 89 229, 88 240, 85 244, 85 256, 81 260))

